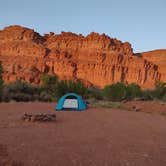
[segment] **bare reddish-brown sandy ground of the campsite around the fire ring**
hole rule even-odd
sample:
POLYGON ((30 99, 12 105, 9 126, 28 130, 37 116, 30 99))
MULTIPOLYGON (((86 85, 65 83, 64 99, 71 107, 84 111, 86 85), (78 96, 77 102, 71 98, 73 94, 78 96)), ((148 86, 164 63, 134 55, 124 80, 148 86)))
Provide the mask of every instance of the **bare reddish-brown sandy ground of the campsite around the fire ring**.
POLYGON ((21 120, 55 113, 54 105, 0 104, 0 166, 166 166, 166 116, 88 109, 56 112, 56 122, 21 120))

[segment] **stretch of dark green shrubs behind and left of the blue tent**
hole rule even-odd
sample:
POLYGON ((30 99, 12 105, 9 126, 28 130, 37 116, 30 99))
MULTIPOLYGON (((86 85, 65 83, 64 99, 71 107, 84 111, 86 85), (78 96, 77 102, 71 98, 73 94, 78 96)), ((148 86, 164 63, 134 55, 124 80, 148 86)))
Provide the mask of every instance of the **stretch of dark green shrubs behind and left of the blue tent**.
POLYGON ((55 76, 43 75, 41 86, 34 86, 27 82, 17 80, 6 84, 3 89, 3 101, 55 101, 65 93, 87 95, 87 88, 81 81, 58 80, 55 76))

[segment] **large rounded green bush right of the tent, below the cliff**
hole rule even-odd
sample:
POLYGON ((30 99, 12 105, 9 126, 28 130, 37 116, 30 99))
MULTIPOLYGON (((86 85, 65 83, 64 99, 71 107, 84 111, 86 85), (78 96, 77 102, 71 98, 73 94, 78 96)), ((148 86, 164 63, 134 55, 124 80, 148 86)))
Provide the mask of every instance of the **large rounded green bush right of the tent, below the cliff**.
POLYGON ((126 85, 123 82, 105 86, 103 89, 104 96, 111 101, 122 101, 127 93, 126 85))

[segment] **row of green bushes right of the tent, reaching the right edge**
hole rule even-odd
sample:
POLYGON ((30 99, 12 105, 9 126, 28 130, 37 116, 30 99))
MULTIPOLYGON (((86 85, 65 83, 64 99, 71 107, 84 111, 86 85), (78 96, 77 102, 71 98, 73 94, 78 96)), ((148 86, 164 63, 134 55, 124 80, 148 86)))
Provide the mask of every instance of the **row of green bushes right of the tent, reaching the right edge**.
POLYGON ((166 101, 166 83, 156 82, 154 90, 141 90, 139 85, 131 83, 125 85, 124 83, 118 82, 106 86, 103 89, 104 96, 111 101, 122 101, 122 100, 163 100, 166 101))

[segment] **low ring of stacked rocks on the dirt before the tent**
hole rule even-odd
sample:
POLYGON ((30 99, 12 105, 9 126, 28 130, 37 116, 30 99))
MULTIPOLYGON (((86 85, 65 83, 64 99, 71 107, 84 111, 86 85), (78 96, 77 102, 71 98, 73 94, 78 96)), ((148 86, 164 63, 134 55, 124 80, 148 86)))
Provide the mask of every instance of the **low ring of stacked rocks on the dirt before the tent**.
POLYGON ((56 120, 55 114, 24 114, 22 117, 23 121, 26 122, 50 122, 56 120))

